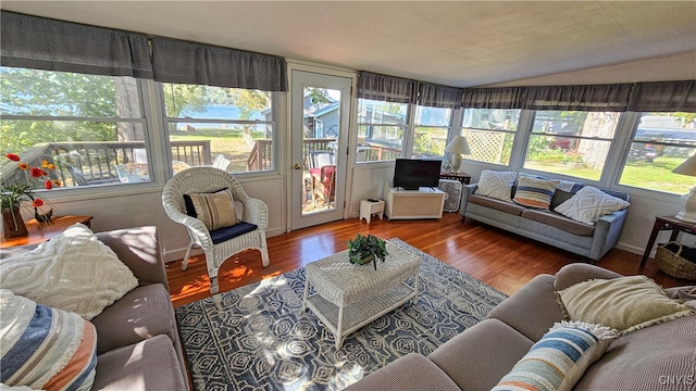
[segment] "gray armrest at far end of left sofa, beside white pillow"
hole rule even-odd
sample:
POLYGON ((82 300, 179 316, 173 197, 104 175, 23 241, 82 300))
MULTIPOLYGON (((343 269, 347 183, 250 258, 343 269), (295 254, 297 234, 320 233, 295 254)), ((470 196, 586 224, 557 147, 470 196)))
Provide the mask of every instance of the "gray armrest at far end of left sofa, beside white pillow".
POLYGON ((166 269, 153 226, 97 232, 97 238, 130 268, 139 285, 162 283, 169 291, 166 269))

